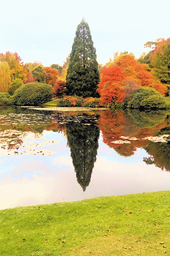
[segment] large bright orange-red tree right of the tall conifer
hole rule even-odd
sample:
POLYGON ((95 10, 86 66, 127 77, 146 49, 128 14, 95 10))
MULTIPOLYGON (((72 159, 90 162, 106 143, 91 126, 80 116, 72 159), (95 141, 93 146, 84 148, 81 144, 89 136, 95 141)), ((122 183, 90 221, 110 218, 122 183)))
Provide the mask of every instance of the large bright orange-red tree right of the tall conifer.
POLYGON ((165 95, 166 86, 148 70, 149 66, 138 63, 132 53, 122 53, 113 62, 109 62, 100 75, 100 84, 97 89, 103 103, 122 103, 126 98, 127 81, 133 81, 136 88, 152 87, 165 95))

